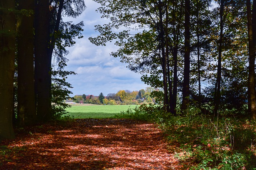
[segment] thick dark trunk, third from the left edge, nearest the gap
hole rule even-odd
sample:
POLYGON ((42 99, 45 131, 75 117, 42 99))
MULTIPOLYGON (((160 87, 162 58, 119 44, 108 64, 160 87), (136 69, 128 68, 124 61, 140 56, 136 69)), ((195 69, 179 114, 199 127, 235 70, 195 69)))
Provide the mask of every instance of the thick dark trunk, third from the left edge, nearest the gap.
POLYGON ((35 15, 35 88, 38 121, 51 118, 50 88, 49 88, 49 1, 38 0, 35 15))

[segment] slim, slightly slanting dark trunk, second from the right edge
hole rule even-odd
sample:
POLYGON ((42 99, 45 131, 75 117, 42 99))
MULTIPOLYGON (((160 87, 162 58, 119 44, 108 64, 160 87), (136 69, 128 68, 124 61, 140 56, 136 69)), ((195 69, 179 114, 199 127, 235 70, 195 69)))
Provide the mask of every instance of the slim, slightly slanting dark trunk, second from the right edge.
POLYGON ((220 1, 220 39, 218 49, 218 66, 217 66, 217 80, 214 92, 214 114, 217 113, 220 105, 220 83, 221 83, 221 57, 222 57, 222 39, 223 39, 223 10, 224 0, 220 1))

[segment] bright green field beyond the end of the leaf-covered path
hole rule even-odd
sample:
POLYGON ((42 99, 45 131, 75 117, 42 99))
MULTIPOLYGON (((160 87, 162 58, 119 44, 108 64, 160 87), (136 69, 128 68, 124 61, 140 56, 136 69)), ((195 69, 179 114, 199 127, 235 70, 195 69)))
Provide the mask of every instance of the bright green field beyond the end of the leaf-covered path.
POLYGON ((63 116, 71 116, 75 119, 113 118, 121 111, 134 109, 136 106, 138 105, 72 105, 66 109, 69 113, 63 116))

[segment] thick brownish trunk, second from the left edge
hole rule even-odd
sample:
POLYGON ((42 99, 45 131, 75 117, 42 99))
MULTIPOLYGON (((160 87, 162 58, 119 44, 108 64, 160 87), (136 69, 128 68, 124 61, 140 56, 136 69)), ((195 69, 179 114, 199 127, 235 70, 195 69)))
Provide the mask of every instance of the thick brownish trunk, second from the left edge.
MULTIPOLYGON (((34 0, 19 0, 19 10, 32 10, 34 0)), ((18 125, 36 121, 34 90, 34 14, 20 15, 18 27, 18 125)))

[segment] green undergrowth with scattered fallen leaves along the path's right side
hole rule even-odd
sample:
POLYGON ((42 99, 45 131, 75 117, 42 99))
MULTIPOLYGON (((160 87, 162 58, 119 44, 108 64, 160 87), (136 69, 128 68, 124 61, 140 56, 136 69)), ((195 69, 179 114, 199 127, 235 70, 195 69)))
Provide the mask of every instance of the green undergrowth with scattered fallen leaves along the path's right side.
POLYGON ((197 108, 173 116, 161 106, 142 105, 116 117, 156 122, 176 158, 189 170, 256 170, 255 122, 235 117, 207 117, 197 108))

